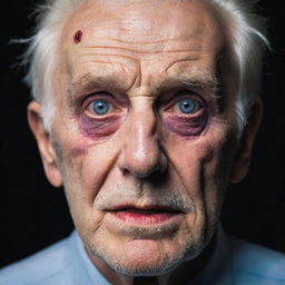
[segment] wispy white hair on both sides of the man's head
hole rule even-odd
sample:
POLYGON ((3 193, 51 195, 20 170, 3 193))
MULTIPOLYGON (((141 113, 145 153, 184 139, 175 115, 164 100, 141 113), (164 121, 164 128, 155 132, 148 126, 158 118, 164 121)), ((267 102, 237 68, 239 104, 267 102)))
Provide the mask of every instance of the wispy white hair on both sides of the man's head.
MULTIPOLYGON (((92 0, 45 0, 38 7, 38 26, 29 43, 23 62, 29 65, 26 82, 32 97, 42 106, 42 118, 50 130, 53 106, 52 72, 56 65, 56 48, 60 27, 81 3, 92 0)), ((248 110, 257 96, 261 83, 262 58, 268 41, 264 36, 264 20, 253 12, 249 0, 207 0, 225 19, 229 29, 232 60, 238 70, 239 86, 236 100, 236 118, 239 132, 246 125, 248 110)))

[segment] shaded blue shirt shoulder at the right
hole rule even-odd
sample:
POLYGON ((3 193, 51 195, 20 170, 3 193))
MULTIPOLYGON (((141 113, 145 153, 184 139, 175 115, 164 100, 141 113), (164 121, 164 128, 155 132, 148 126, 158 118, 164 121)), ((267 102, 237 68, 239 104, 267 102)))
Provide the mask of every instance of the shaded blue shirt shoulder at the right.
POLYGON ((285 285, 285 254, 230 238, 238 284, 285 285))

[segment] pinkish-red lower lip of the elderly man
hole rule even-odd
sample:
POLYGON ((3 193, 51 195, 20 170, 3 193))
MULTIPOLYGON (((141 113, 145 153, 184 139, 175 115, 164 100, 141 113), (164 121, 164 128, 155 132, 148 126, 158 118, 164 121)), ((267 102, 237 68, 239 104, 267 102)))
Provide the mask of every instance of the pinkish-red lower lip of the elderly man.
POLYGON ((140 210, 119 210, 114 213, 115 216, 126 223, 140 224, 140 225, 154 225, 161 224, 177 216, 179 213, 157 212, 147 213, 140 210))

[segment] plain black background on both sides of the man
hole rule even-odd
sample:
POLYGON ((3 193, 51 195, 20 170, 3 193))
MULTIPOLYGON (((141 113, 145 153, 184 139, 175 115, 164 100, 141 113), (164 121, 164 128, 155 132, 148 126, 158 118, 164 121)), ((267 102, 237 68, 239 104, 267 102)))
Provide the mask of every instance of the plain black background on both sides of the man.
MULTIPOLYGON (((285 9, 282 0, 261 1, 268 17, 273 50, 265 59, 265 117, 249 175, 229 187, 223 212, 227 232, 285 252, 285 9)), ((67 236, 72 224, 62 189, 46 180, 36 142, 28 130, 29 90, 23 70, 13 65, 33 27, 32 1, 1 3, 0 33, 0 266, 18 261, 67 236)))

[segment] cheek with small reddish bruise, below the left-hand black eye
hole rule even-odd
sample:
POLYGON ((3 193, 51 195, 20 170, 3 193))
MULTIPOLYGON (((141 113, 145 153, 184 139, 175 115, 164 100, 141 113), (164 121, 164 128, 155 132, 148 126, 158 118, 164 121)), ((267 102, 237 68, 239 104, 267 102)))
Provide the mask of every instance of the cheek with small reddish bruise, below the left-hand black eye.
POLYGON ((56 142, 65 187, 88 204, 100 189, 111 161, 109 144, 96 142, 76 132, 56 142))

